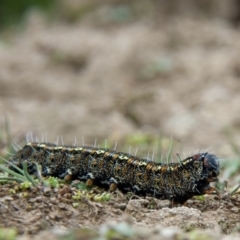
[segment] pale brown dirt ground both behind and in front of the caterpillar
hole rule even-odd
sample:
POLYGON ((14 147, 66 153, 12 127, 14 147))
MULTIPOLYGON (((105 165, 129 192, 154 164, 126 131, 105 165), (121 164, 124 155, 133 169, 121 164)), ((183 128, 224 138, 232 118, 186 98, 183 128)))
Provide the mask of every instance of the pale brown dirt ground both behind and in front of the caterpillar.
MULTIPOLYGON (((231 140, 240 146, 239 28, 188 14, 114 22, 117 11, 99 7, 72 24, 33 12, 20 31, 0 36, 1 155, 8 141, 23 144, 32 135, 50 142, 63 136, 66 144, 76 138, 79 145, 107 139, 128 151, 129 136, 161 133, 179 143, 176 151, 210 149, 234 159, 231 140)), ((239 183, 227 176, 223 170, 221 182, 239 183)), ((104 203, 83 197, 73 206, 72 186, 14 187, 0 185, 0 227, 16 228, 19 239, 240 237, 238 193, 176 208, 121 193, 104 203)))

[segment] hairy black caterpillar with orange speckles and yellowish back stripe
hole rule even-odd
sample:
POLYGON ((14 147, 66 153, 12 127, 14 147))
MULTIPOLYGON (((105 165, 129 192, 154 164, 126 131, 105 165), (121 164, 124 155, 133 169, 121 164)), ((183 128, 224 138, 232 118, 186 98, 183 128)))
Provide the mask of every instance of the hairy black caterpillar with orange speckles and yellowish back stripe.
POLYGON ((194 195, 216 193, 210 183, 220 173, 219 159, 207 152, 162 164, 104 148, 37 142, 27 143, 10 161, 19 167, 27 161, 30 174, 36 173, 38 163, 43 176, 80 179, 110 191, 118 188, 181 205, 194 195))

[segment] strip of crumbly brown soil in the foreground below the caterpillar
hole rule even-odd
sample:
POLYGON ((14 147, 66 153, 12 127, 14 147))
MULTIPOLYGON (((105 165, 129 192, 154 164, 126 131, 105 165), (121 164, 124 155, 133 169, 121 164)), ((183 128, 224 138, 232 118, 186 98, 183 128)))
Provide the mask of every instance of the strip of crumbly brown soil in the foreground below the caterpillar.
MULTIPOLYGON (((18 184, 4 184, 0 187, 0 227, 14 227, 19 235, 24 236, 20 239, 28 239, 30 236, 40 239, 41 234, 47 232, 47 239, 52 239, 52 235, 67 236, 69 230, 72 230, 76 239, 78 234, 85 234, 85 239, 92 239, 90 230, 84 233, 86 229, 95 229, 96 237, 101 234, 101 231, 97 231, 97 226, 111 229, 119 223, 125 223, 125 228, 130 227, 136 231, 138 234, 133 235, 136 239, 142 234, 145 236, 143 229, 151 229, 148 233, 151 239, 154 235, 164 237, 162 229, 168 228, 170 239, 176 234, 181 236, 184 232, 196 229, 214 231, 216 235, 211 237, 218 239, 221 233, 236 234, 240 227, 239 194, 206 196, 201 200, 191 199, 186 206, 169 208, 168 201, 138 196, 127 197, 120 192, 112 194, 112 199, 107 202, 96 202, 87 195, 80 200, 74 200, 72 196, 77 190, 70 185, 25 191, 20 190, 18 184), (81 231, 77 232, 77 229, 81 231)), ((101 190, 97 188, 92 191, 101 194, 101 190)), ((208 235, 209 232, 205 231, 205 234, 208 235)), ((120 239, 124 239, 123 233, 119 233, 122 237, 120 239)), ((224 237, 221 236, 220 239, 224 237)))

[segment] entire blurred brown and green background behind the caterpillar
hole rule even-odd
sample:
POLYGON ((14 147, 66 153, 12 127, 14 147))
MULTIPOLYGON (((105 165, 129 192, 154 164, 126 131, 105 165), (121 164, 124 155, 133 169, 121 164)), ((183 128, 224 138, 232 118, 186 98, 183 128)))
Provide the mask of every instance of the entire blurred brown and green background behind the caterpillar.
POLYGON ((239 30, 239 0, 1 0, 1 142, 232 155, 239 30))

